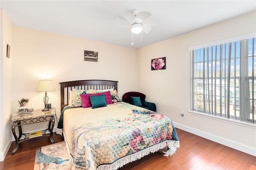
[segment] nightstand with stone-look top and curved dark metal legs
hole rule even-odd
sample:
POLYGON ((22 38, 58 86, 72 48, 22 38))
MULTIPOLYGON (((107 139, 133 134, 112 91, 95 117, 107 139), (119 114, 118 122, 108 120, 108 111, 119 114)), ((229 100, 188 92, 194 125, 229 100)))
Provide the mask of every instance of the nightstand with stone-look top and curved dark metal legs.
POLYGON ((26 113, 18 115, 18 113, 14 113, 12 117, 12 134, 15 138, 15 148, 12 151, 12 154, 14 154, 19 146, 20 142, 23 142, 25 140, 34 138, 34 137, 40 137, 40 136, 50 136, 50 140, 52 143, 55 143, 52 138, 52 130, 54 127, 56 112, 54 109, 50 109, 49 111, 42 111, 41 109, 34 110, 32 113, 26 113), (31 132, 31 133, 22 133, 22 125, 29 125, 33 123, 40 123, 40 122, 46 122, 49 121, 48 128, 44 130, 40 130, 37 132, 31 132), (19 137, 17 137, 17 134, 15 132, 15 128, 18 127, 19 129, 19 137), (49 131, 50 134, 46 134, 46 131, 49 131), (24 138, 20 139, 24 135, 24 138))

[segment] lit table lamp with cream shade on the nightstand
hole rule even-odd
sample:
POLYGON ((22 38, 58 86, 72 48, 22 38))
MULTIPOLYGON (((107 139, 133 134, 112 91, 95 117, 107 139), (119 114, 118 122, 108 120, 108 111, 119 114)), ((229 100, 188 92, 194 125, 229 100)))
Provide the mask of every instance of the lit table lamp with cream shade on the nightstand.
POLYGON ((44 96, 44 109, 42 111, 48 111, 47 103, 48 103, 48 96, 47 96, 47 91, 54 91, 54 85, 52 80, 39 80, 38 85, 37 85, 37 90, 36 91, 45 91, 45 96, 44 96))

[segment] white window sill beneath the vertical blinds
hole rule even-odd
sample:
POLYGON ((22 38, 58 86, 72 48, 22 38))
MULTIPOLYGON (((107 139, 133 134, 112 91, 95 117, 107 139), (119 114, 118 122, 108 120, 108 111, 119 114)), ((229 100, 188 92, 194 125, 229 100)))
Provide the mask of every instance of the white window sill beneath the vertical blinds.
POLYGON ((256 128, 255 124, 251 124, 251 123, 246 123, 246 122, 242 122, 242 121, 234 121, 232 119, 226 119, 224 117, 216 117, 213 115, 207 115, 204 113, 200 113, 200 112, 196 112, 196 111, 189 111, 191 113, 191 115, 196 115, 196 116, 201 116, 201 117, 206 117, 209 119, 214 119, 216 121, 222 121, 222 122, 226 122, 226 123, 230 123, 230 124, 234 124, 234 125, 239 125, 239 126, 243 126, 243 127, 248 127, 248 128, 256 128))

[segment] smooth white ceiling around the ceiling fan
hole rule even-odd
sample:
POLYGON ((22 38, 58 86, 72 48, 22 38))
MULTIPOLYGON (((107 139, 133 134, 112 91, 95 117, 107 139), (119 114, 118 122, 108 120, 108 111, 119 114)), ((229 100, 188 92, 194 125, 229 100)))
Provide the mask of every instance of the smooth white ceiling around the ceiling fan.
POLYGON ((0 0, 0 7, 14 26, 140 48, 256 11, 256 1, 0 0), (131 45, 131 30, 118 15, 133 20, 135 9, 151 12, 146 22, 153 26, 131 45))

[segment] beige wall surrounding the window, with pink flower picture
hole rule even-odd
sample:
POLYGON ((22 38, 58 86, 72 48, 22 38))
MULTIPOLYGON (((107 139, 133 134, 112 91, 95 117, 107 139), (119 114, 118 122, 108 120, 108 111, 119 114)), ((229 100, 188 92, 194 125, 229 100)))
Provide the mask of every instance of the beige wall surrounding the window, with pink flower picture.
POLYGON ((255 30, 256 14, 253 12, 138 49, 140 65, 138 90, 147 95, 147 101, 155 102, 157 111, 172 118, 177 126, 184 125, 255 149, 255 126, 243 127, 189 113, 190 51, 188 51, 193 45, 249 34, 255 30), (166 69, 151 71, 150 60, 158 57, 166 57, 166 69), (185 112, 184 117, 180 117, 181 110, 185 112))

